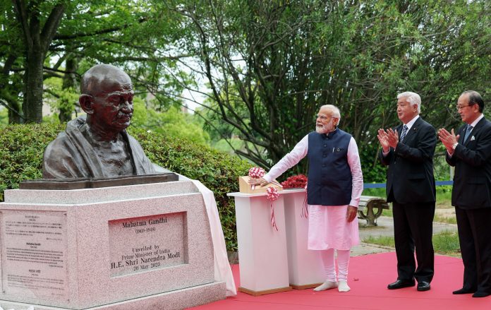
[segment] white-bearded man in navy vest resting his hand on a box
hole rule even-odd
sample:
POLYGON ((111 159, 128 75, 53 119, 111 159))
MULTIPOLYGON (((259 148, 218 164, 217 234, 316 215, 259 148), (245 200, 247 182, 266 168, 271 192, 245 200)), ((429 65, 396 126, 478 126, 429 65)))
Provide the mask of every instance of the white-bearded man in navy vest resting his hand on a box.
POLYGON ((337 128, 340 119, 339 109, 334 105, 320 107, 315 131, 305 136, 264 177, 250 180, 253 185, 268 184, 308 156, 308 249, 320 251, 326 273, 326 281, 315 291, 336 287, 339 292, 350 290, 349 251, 359 242, 355 218, 363 191, 363 175, 356 141, 337 128))

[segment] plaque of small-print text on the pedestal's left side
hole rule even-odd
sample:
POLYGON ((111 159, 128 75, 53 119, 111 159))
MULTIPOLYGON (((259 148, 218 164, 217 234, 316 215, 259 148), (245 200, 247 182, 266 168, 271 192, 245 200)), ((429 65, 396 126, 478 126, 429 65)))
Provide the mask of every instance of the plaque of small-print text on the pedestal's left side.
POLYGON ((2 210, 0 217, 4 294, 65 302, 66 214, 2 210))

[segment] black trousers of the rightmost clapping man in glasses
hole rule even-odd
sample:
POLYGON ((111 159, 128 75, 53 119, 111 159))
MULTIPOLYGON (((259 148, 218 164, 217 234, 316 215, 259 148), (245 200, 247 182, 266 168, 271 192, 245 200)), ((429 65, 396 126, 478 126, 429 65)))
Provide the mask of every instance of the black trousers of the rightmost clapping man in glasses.
POLYGON ((463 262, 463 288, 491 293, 491 208, 455 208, 463 262))

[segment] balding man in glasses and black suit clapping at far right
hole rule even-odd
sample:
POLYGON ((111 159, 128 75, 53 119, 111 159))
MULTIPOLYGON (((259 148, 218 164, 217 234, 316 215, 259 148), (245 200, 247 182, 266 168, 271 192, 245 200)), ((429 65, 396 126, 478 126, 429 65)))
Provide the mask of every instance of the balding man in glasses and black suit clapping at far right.
POLYGON ((440 129, 447 162, 455 167, 451 204, 455 206, 463 261, 463 287, 454 294, 491 294, 491 121, 479 93, 466 91, 457 101, 464 123, 454 133, 440 129))

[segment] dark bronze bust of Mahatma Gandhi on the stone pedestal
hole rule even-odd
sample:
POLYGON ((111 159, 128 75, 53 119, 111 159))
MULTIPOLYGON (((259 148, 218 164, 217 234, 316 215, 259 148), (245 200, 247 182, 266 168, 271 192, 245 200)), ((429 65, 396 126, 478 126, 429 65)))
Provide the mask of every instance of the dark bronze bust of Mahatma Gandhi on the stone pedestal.
POLYGON ((87 113, 44 151, 44 179, 96 179, 155 174, 140 143, 126 133, 133 116, 133 85, 120 68, 98 64, 80 81, 80 107, 87 113))

